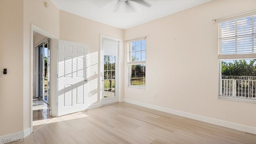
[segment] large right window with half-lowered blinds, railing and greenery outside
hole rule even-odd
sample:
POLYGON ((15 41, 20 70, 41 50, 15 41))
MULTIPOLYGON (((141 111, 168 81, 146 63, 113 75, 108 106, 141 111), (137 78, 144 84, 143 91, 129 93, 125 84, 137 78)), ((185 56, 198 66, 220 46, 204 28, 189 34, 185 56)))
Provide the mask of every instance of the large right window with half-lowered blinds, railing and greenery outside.
POLYGON ((256 15, 218 24, 220 97, 256 102, 256 15))

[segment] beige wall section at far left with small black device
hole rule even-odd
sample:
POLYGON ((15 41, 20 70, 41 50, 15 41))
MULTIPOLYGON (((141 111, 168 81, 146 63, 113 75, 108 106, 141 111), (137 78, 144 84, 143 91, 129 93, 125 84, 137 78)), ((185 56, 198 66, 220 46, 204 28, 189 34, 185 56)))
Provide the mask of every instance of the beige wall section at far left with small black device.
POLYGON ((0 136, 23 130, 23 1, 0 0, 0 136))

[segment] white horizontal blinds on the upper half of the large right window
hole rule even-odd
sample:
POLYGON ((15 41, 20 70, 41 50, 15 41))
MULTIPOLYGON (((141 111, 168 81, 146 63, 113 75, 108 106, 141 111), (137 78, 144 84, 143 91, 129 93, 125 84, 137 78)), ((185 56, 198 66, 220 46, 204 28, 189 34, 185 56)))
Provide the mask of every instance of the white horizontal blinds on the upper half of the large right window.
POLYGON ((256 16, 219 23, 218 53, 220 59, 255 57, 256 16))

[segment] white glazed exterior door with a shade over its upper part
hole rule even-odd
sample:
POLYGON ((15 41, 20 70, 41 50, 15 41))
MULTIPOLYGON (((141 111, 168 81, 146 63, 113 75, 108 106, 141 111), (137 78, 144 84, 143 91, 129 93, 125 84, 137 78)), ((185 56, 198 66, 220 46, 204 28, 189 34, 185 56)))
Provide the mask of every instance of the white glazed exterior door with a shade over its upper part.
POLYGON ((118 102, 119 41, 102 38, 102 105, 118 102))

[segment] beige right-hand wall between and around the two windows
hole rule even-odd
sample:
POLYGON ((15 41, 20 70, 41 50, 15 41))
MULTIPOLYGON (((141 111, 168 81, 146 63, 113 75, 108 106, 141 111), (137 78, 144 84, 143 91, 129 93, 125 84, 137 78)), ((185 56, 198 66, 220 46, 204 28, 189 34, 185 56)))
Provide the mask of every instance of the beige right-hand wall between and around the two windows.
POLYGON ((218 29, 212 22, 255 9, 255 0, 216 0, 125 30, 125 40, 148 38, 146 90, 129 88, 124 74, 124 98, 256 127, 255 103, 218 99, 218 29))

